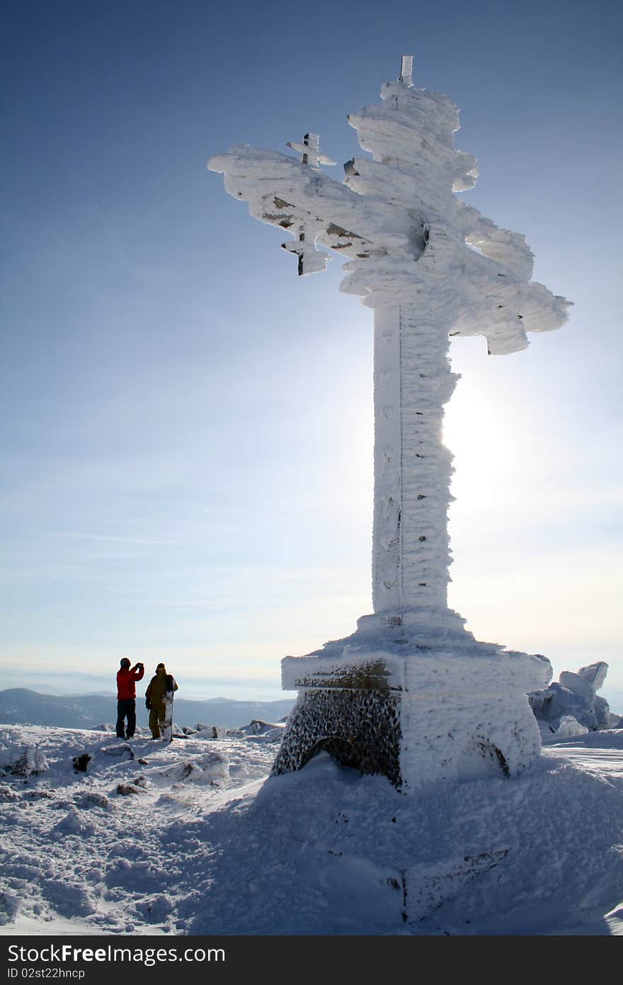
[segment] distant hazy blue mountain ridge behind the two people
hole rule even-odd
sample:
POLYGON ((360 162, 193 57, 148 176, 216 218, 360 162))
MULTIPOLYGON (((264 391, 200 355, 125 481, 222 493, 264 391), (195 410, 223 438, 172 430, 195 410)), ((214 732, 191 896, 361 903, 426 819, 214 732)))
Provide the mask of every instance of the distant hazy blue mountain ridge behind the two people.
MULTIPOLYGON (((179 726, 194 727, 198 722, 239 728, 254 718, 277 722, 289 714, 294 701, 236 701, 215 697, 192 701, 176 697, 173 718, 179 726)), ((145 699, 137 696, 137 724, 147 726, 149 712, 145 699)), ((93 729, 104 723, 114 724, 117 700, 114 694, 56 695, 40 694, 27 688, 0 690, 0 723, 5 725, 50 725, 69 729, 93 729)))

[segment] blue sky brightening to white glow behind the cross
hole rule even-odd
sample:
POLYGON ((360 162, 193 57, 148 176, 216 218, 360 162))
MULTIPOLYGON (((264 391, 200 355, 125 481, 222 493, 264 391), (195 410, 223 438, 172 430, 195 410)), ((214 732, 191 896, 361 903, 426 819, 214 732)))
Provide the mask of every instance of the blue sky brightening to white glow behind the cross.
POLYGON ((372 312, 339 258, 298 279, 206 162, 308 130, 362 153, 345 115, 412 53, 461 107, 467 201, 575 302, 524 353, 453 343, 451 604, 623 692, 620 6, 6 10, 7 685, 100 689, 128 655, 186 696, 277 697, 282 656, 371 611, 372 312))

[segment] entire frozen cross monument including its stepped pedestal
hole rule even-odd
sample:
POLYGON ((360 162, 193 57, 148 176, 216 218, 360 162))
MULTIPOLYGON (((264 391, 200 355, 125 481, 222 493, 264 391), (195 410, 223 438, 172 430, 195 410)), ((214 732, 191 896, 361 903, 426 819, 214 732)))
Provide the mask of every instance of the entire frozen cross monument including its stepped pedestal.
POLYGON ((492 771, 515 776, 540 752, 527 693, 551 666, 481 643, 448 608, 451 454, 444 404, 457 382, 452 336, 483 335, 491 355, 528 346, 528 332, 559 328, 568 302, 530 282, 523 235, 499 230, 454 194, 473 186, 476 162, 454 148, 458 110, 414 89, 412 58, 380 105, 348 122, 372 157, 344 165, 343 182, 315 134, 297 157, 233 147, 209 167, 256 219, 288 230, 298 273, 345 255, 341 290, 374 309, 374 614, 346 639, 282 661, 298 690, 274 773, 326 750, 382 773, 405 793, 492 771))

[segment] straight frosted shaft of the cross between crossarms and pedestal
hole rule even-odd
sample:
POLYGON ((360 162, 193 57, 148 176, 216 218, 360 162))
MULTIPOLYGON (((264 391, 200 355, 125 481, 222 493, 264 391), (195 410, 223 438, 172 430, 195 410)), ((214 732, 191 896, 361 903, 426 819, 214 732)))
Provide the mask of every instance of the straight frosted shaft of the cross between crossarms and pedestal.
POLYGON ((443 619, 451 562, 452 455, 442 444, 452 311, 413 304, 374 313, 374 613, 396 624, 443 619))

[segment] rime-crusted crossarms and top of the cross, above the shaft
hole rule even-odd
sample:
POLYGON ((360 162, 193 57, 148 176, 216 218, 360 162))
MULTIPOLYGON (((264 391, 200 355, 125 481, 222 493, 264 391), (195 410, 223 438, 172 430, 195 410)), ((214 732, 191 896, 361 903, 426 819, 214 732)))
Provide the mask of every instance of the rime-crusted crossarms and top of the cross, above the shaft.
POLYGON ((404 82, 388 83, 381 96, 382 105, 348 117, 373 160, 348 162, 343 184, 305 153, 298 161, 246 144, 209 167, 224 172, 225 189, 252 216, 295 236, 283 245, 303 254, 302 273, 325 269, 329 256, 315 258, 317 245, 351 257, 342 290, 370 307, 413 303, 430 317, 448 301, 450 334, 484 335, 490 353, 525 349, 527 332, 563 325, 569 302, 529 283, 525 237, 499 230, 453 194, 477 176, 475 159, 453 146, 454 102, 404 82))

